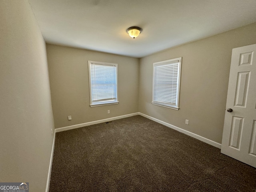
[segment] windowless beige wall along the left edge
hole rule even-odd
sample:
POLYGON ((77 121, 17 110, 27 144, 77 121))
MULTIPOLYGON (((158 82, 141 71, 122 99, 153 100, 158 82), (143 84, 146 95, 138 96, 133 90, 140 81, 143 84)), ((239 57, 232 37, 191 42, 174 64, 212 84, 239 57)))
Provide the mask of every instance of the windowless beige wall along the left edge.
POLYGON ((45 42, 26 0, 0 1, 0 182, 46 189, 54 129, 45 42))

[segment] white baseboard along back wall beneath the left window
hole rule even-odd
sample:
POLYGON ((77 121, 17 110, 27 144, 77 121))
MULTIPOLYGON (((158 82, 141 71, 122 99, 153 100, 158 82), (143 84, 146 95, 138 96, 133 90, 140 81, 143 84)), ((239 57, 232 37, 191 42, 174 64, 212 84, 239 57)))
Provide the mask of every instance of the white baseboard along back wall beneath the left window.
POLYGON ((82 123, 82 124, 77 124, 77 125, 71 125, 71 126, 67 126, 67 127, 57 128, 57 129, 55 129, 55 132, 61 132, 61 131, 76 129, 76 128, 85 127, 85 126, 89 126, 89 125, 104 123, 104 122, 108 122, 108 121, 113 121, 113 120, 117 120, 117 119, 122 119, 122 118, 126 118, 126 117, 135 116, 135 115, 138 115, 138 114, 139 113, 131 113, 131 114, 117 116, 117 117, 112 117, 112 118, 108 118, 108 119, 102 119, 102 120, 98 120, 98 121, 92 121, 92 122, 87 122, 87 123, 82 123))

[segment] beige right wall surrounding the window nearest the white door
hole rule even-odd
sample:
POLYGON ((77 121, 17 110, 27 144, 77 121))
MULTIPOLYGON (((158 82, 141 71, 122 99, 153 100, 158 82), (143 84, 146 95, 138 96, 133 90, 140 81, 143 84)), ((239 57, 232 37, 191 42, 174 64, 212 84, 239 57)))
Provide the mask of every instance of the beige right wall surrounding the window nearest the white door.
POLYGON ((255 43, 256 23, 141 58, 139 112, 221 143, 232 48, 255 43), (152 105, 153 62, 178 57, 180 110, 152 105))

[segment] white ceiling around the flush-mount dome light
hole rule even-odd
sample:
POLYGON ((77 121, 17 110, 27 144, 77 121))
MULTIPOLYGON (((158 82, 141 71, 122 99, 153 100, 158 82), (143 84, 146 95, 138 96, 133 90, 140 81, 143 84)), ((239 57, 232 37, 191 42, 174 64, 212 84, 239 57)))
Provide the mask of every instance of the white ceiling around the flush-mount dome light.
POLYGON ((136 58, 256 22, 256 0, 29 2, 46 42, 136 58))

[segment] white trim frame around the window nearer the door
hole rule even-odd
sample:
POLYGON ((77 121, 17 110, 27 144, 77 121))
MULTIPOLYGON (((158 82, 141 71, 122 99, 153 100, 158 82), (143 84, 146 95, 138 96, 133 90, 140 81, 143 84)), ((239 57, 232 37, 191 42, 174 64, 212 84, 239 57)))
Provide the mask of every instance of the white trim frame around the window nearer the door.
POLYGON ((179 110, 181 63, 182 63, 182 58, 181 57, 153 63, 152 104, 158 105, 158 106, 162 106, 162 107, 166 107, 166 108, 170 108, 170 109, 174 109, 174 110, 179 110), (164 63, 174 63, 176 61, 179 62, 178 77, 177 77, 177 79, 178 79, 178 86, 177 86, 176 106, 154 101, 154 78, 155 78, 154 77, 154 66, 162 65, 164 63))

